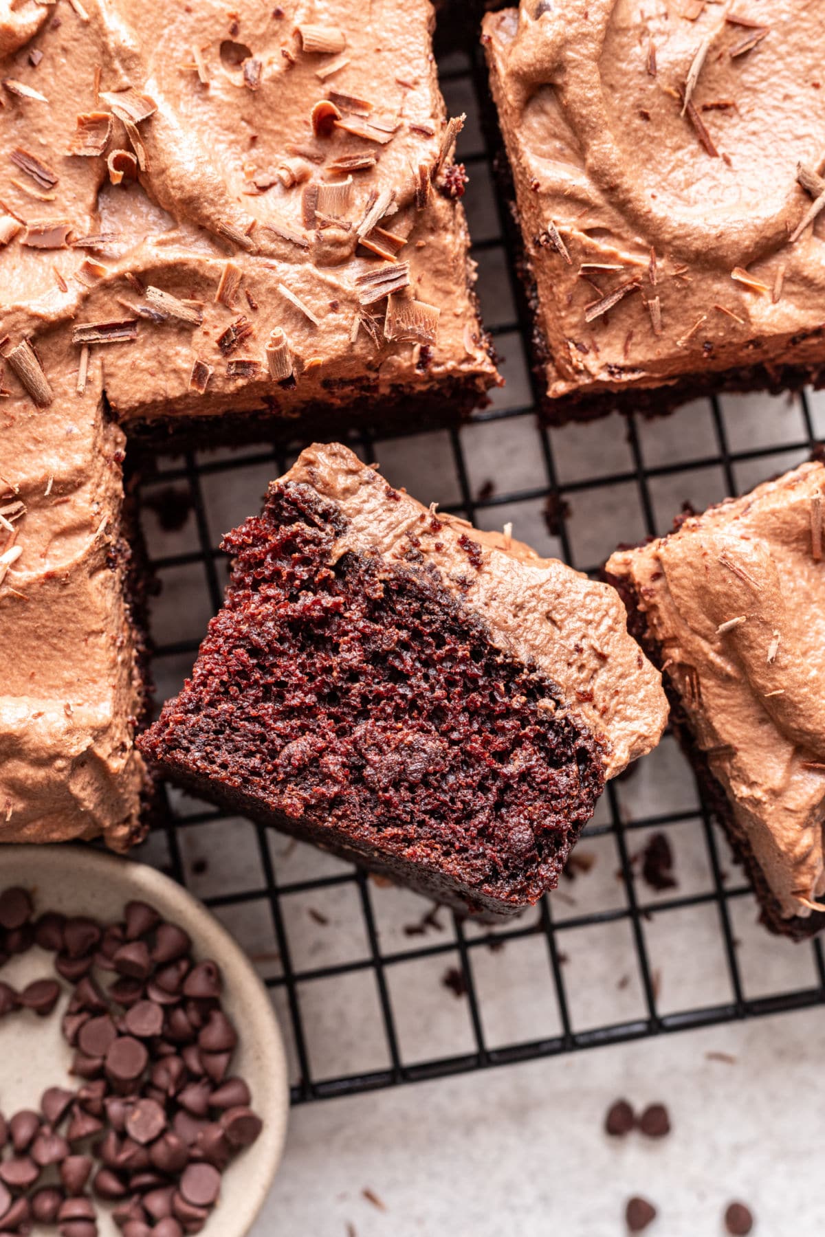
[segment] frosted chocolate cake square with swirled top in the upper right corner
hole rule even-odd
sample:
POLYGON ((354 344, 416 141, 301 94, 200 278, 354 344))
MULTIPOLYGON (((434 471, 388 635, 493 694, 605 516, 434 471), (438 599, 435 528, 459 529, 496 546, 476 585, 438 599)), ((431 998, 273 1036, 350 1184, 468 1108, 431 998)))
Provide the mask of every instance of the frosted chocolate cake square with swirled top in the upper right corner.
POLYGON ((825 381, 815 6, 522 0, 484 43, 549 421, 825 381))

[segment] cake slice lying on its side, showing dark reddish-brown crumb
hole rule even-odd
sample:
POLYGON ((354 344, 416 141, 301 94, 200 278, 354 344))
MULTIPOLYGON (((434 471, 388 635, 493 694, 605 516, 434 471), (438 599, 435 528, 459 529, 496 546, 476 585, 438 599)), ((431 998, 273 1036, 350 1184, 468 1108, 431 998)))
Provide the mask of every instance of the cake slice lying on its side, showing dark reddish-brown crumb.
POLYGON ((199 795, 474 913, 553 888, 664 727, 607 585, 312 447, 224 541, 223 610, 141 737, 199 795))

